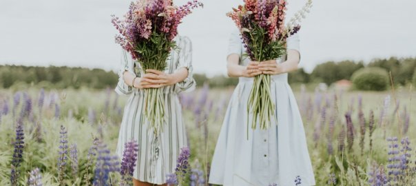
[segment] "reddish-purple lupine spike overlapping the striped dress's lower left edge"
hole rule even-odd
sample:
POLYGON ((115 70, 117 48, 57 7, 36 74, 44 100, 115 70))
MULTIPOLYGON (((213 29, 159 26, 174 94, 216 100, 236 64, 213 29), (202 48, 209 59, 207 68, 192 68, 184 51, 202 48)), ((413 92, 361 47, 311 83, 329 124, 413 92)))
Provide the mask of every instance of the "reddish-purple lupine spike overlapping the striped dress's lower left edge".
POLYGON ((125 143, 123 160, 121 161, 121 171, 120 174, 123 179, 123 183, 130 183, 131 178, 134 173, 134 168, 136 167, 138 153, 138 144, 136 141, 130 141, 125 143))

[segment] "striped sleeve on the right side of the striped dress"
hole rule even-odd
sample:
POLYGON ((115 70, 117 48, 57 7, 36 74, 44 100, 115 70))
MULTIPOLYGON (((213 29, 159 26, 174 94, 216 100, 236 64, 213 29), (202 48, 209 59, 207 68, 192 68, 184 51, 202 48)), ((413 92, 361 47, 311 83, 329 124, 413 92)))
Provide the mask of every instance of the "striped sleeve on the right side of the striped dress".
POLYGON ((179 64, 176 70, 180 68, 187 68, 188 76, 183 81, 176 83, 179 92, 191 92, 195 90, 196 82, 194 79, 194 67, 192 66, 192 43, 188 37, 180 37, 178 46, 180 48, 179 52, 179 64))

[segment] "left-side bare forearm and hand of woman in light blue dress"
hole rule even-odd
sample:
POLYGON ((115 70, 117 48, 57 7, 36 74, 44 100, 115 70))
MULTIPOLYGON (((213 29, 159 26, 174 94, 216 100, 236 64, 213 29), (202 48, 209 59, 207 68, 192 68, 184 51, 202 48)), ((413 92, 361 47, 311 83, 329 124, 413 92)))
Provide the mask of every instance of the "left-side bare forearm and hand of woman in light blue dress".
POLYGON ((227 74, 230 77, 253 77, 257 76, 258 74, 262 74, 260 70, 258 70, 258 62, 251 61, 249 65, 242 66, 238 65, 240 61, 240 56, 238 54, 230 54, 227 58, 227 74))

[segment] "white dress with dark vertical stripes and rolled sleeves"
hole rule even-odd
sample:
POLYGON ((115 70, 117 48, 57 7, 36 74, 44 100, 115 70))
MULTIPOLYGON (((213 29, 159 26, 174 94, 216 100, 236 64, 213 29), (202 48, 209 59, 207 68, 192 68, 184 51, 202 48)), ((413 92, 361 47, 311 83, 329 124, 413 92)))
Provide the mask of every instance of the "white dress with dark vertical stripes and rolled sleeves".
POLYGON ((165 73, 174 73, 180 68, 188 69, 187 78, 176 85, 163 87, 165 99, 165 126, 159 136, 155 136, 153 128, 144 116, 144 92, 129 87, 123 81, 125 70, 141 76, 138 62, 123 61, 119 71, 119 80, 115 91, 120 95, 128 95, 129 99, 123 112, 116 153, 123 156, 124 145, 136 141, 139 145, 136 169, 133 177, 137 180, 153 184, 164 184, 166 174, 174 172, 180 148, 187 146, 187 136, 178 100, 178 93, 195 89, 192 77, 192 47, 187 37, 176 37, 178 49, 172 50, 167 59, 165 73))

